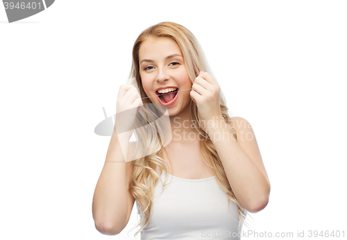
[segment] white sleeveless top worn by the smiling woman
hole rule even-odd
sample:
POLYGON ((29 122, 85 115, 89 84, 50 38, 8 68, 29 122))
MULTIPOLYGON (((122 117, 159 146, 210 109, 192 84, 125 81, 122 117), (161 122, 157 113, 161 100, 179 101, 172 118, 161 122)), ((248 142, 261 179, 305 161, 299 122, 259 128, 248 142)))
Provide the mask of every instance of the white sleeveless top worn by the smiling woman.
POLYGON ((190 180, 167 175, 164 182, 162 171, 162 182, 171 181, 164 191, 160 180, 155 185, 153 215, 141 231, 141 240, 240 239, 237 204, 229 200, 229 213, 226 192, 214 176, 190 180))

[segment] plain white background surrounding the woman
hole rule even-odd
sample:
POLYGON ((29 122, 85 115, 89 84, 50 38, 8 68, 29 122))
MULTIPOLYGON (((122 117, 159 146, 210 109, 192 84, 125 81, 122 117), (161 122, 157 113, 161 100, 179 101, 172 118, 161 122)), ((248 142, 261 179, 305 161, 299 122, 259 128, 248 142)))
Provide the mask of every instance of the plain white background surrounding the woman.
POLYGON ((117 236, 94 227, 110 142, 94 128, 102 107, 115 114, 136 37, 163 21, 196 35, 230 112, 253 126, 271 195, 252 230, 346 237, 346 12, 346 1, 75 0, 8 24, 0 5, 0 238, 129 239, 136 209, 117 236))

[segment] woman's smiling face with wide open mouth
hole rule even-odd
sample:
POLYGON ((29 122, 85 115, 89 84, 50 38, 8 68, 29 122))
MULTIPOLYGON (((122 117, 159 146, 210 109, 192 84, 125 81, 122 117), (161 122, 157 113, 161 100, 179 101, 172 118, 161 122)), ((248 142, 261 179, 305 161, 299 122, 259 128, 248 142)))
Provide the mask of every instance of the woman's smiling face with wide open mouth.
POLYGON ((139 75, 151 102, 164 105, 169 116, 182 112, 192 99, 189 90, 183 91, 192 88, 183 54, 178 44, 169 37, 151 37, 142 42, 139 48, 139 75), (171 87, 179 92, 158 92, 171 87))

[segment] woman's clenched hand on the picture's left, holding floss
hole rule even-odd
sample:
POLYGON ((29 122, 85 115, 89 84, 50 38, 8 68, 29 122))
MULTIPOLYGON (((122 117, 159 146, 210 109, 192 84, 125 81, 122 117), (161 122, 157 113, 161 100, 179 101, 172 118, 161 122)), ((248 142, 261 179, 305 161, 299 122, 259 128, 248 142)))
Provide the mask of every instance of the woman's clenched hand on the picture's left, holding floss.
POLYGON ((117 96, 117 112, 115 128, 117 134, 127 137, 133 135, 135 116, 144 103, 134 85, 121 85, 117 96))

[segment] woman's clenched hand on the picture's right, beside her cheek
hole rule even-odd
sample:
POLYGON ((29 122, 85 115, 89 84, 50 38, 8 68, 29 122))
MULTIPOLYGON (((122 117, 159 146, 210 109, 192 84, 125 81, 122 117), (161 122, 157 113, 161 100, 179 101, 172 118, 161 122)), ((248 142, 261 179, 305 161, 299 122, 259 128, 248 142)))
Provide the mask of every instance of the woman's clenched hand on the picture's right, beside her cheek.
POLYGON ((222 116, 219 105, 220 87, 208 72, 200 71, 195 78, 190 96, 198 106, 198 115, 208 123, 222 116))

